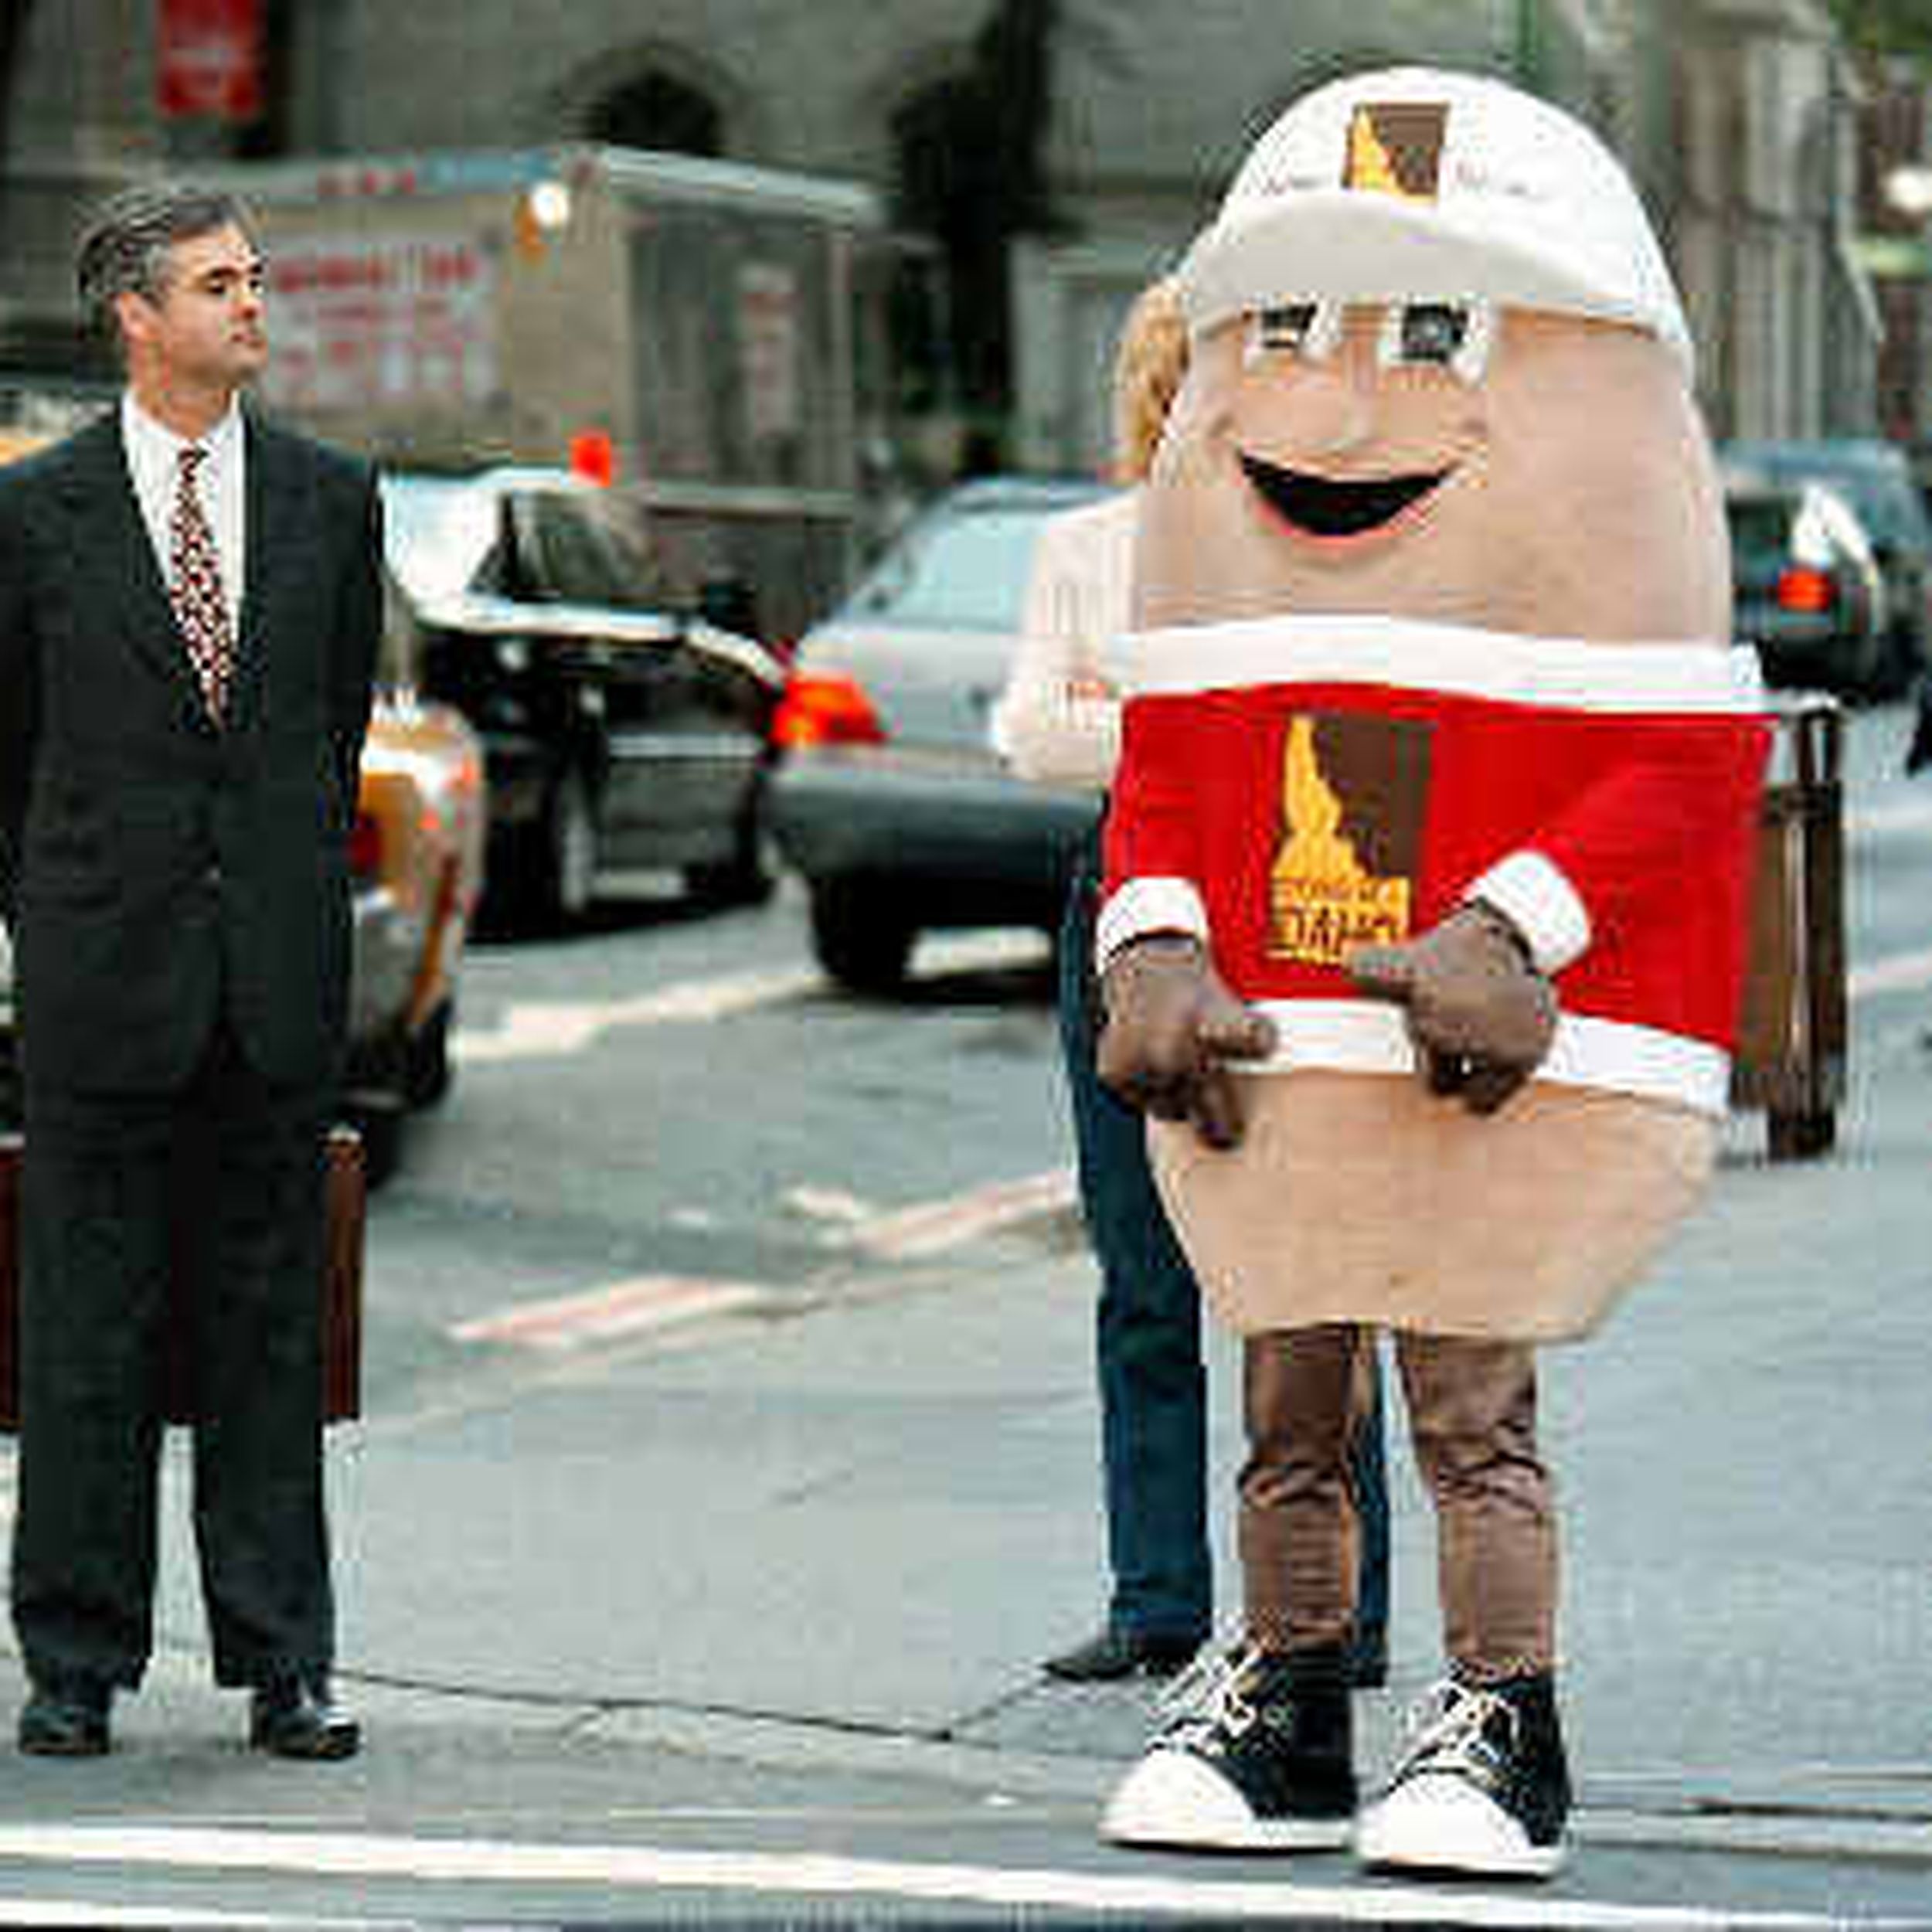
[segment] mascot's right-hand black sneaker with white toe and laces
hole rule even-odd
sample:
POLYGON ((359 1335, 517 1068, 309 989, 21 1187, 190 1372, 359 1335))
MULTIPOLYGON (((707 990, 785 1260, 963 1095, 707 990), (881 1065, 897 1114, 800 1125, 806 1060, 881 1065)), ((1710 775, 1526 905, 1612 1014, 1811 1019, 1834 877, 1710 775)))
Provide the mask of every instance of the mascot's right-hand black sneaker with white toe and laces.
POLYGON ((1549 1878, 1563 1864, 1569 1770, 1548 1677, 1439 1685, 1354 1849, 1376 1870, 1549 1878))

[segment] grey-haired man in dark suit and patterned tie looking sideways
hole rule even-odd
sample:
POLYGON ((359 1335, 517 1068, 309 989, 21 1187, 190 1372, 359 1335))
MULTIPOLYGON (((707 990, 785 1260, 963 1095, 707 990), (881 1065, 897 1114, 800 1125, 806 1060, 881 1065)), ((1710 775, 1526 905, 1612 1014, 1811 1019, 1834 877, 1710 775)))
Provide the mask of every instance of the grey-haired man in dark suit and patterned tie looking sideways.
POLYGON ((95 1756, 151 1648, 164 1294, 191 1267, 195 1538, 249 1739, 342 1758, 321 1455, 348 835, 381 628, 369 469, 240 408, 263 265, 143 187, 79 249, 120 408, 0 471, 0 910, 27 1153, 19 1748, 95 1756), (199 454, 197 454, 199 452, 199 454))

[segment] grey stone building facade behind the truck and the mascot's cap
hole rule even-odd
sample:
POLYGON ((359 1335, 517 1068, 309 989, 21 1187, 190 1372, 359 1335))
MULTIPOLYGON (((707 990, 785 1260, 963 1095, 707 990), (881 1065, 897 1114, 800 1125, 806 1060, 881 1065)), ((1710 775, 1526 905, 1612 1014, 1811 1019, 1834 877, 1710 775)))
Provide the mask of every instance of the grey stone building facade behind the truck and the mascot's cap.
MULTIPOLYGON (((162 114, 166 0, 35 6, 0 176, 6 365, 71 357, 73 209, 131 172, 265 145, 599 139, 871 185, 951 269, 951 305, 914 348, 929 419, 978 423, 999 460, 1092 468, 1124 303, 1254 135, 1335 71, 1426 60, 1534 87, 1623 153, 1683 282, 1719 435, 1876 419, 1880 311, 1853 247, 1861 97, 1816 0, 1215 0, 1184 33, 1165 0, 234 6, 263 29, 253 128, 162 114)), ((935 464, 958 456, 958 437, 937 439, 935 464)))

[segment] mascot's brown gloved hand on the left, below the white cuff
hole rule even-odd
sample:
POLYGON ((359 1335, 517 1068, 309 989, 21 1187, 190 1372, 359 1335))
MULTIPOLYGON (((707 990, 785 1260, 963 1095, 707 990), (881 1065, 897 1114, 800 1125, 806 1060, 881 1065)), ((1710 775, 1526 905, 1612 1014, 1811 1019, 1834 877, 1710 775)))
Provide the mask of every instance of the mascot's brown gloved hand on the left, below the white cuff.
POLYGON ((1202 945, 1175 933, 1136 939, 1101 976, 1101 1080, 1128 1107, 1192 1121, 1209 1148, 1240 1146, 1229 1063, 1265 1059, 1275 1028, 1235 999, 1202 945))

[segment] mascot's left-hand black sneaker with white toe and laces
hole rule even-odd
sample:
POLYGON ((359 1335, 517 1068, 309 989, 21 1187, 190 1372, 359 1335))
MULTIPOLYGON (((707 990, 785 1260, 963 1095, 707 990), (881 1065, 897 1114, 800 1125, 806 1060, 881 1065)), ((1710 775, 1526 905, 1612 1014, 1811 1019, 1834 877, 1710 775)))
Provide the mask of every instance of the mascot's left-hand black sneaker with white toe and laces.
POLYGON ((1349 1681, 1250 1646, 1209 1654, 1161 1702, 1165 1725, 1115 1789, 1099 1835, 1180 1851, 1333 1851, 1354 1812, 1349 1681))

